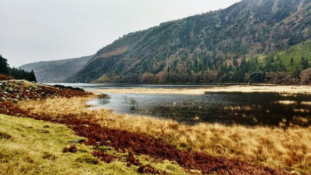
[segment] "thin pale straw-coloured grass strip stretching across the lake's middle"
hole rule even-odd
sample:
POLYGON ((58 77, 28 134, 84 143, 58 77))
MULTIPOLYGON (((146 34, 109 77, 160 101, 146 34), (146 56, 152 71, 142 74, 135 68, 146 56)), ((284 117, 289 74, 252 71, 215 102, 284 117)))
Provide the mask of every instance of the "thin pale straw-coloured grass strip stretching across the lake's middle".
POLYGON ((138 94, 192 94, 202 95, 206 92, 278 92, 286 94, 311 94, 311 86, 225 86, 204 88, 124 88, 94 89, 92 92, 138 93, 138 94))

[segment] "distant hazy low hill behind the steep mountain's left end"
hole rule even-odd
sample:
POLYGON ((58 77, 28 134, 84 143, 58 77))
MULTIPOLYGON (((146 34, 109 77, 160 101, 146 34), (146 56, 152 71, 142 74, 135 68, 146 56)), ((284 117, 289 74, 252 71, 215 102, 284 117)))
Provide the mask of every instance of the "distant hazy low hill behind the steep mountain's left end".
POLYGON ((34 70, 37 81, 40 83, 61 83, 65 79, 77 73, 93 57, 40 61, 20 66, 26 71, 34 70))

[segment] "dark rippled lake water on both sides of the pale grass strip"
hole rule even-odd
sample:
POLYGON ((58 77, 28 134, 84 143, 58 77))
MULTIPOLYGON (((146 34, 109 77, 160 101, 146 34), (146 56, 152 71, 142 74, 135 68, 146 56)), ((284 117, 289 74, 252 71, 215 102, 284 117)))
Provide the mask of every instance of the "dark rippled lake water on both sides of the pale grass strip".
MULTIPOLYGON (((98 88, 189 88, 215 85, 188 84, 62 84, 81 87, 91 91, 98 88)), ((297 94, 284 96, 271 92, 208 92, 204 95, 176 94, 118 94, 111 96, 109 102, 94 99, 90 104, 110 108, 118 113, 139 114, 158 118, 172 119, 180 123, 198 122, 221 123, 224 125, 268 125, 268 126, 309 126, 311 125, 311 105, 302 104, 311 101, 311 95, 297 94), (134 97, 138 107, 133 108, 125 102, 124 96, 134 97), (283 104, 278 101, 295 101, 283 104)))

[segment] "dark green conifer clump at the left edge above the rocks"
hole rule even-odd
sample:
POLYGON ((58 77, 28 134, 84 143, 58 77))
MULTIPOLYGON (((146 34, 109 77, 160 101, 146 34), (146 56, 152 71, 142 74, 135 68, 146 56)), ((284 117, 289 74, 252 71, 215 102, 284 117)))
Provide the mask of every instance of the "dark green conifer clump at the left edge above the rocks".
POLYGON ((0 74, 10 76, 14 79, 25 79, 30 82, 37 82, 37 78, 33 70, 31 72, 25 71, 24 69, 10 68, 7 64, 7 59, 0 55, 0 74))

